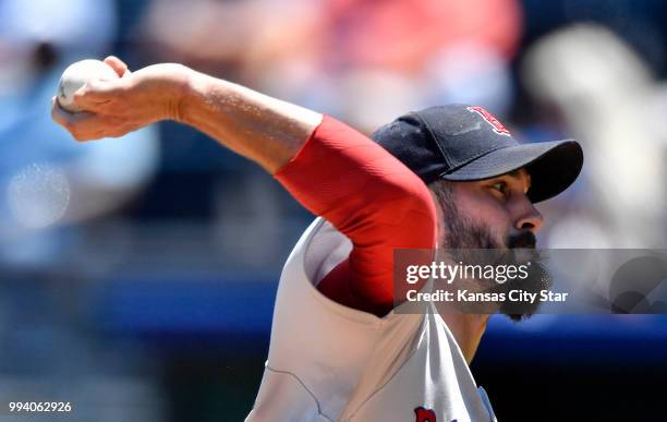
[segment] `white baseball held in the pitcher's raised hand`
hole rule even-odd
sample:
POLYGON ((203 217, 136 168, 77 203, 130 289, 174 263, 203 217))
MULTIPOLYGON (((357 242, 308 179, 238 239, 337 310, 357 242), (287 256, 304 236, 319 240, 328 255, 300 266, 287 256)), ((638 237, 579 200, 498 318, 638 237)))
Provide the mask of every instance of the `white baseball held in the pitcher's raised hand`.
POLYGON ((116 71, 100 60, 81 60, 72 63, 62 72, 58 83, 58 104, 70 112, 83 111, 74 104, 74 93, 90 80, 118 79, 116 71))

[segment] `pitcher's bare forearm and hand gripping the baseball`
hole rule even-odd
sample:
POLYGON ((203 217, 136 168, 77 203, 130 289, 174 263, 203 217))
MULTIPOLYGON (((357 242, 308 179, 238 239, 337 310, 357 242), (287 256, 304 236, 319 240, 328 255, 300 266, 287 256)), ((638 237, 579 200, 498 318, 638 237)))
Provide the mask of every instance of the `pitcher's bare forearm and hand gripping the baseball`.
POLYGON ((51 116, 81 142, 118 137, 173 119, 210 135, 271 174, 288 162, 322 114, 175 63, 130 72, 108 57, 118 79, 90 80, 74 93, 86 112, 71 113, 52 99, 51 116))

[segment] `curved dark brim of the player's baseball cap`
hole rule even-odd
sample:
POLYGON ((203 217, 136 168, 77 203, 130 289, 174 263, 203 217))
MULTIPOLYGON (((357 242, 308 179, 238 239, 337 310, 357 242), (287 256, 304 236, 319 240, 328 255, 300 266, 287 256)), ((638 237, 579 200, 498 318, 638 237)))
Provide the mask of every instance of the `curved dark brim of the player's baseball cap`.
POLYGON ((499 148, 440 177, 451 181, 474 181, 525 167, 532 181, 527 196, 537 203, 568 189, 577 180, 582 166, 581 146, 577 141, 566 140, 499 148))

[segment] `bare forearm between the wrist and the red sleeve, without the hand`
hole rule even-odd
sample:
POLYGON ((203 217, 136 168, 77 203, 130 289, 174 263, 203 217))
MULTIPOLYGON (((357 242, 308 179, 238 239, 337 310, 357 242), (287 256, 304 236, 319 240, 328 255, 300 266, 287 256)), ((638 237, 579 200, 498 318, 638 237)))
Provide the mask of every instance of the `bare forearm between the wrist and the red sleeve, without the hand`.
POLYGON ((185 70, 174 118, 274 174, 322 121, 322 114, 228 81, 185 70))

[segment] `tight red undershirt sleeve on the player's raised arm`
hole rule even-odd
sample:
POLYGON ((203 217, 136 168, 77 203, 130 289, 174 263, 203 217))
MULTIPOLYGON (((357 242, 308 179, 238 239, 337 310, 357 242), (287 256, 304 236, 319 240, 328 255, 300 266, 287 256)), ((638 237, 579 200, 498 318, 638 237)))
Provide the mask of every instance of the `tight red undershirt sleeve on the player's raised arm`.
POLYGON ((381 146, 325 116, 276 179, 352 241, 318 285, 328 298, 384 315, 393 308, 398 248, 434 248, 436 210, 422 180, 381 146))

